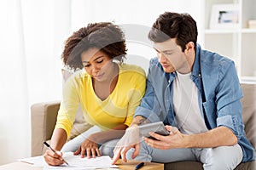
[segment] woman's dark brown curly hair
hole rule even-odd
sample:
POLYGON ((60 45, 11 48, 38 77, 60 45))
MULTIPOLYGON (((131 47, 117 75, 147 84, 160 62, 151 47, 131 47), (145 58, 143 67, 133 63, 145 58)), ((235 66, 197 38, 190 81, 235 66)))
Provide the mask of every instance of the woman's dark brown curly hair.
POLYGON ((82 69, 81 54, 90 48, 98 48, 122 63, 127 51, 124 32, 111 22, 88 24, 68 37, 61 59, 71 69, 82 69))

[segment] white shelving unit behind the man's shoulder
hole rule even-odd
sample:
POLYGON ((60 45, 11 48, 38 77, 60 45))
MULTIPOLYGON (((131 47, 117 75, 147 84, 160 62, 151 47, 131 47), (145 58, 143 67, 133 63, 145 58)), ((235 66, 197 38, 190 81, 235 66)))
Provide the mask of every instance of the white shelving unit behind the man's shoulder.
POLYGON ((242 82, 256 83, 256 28, 247 27, 256 20, 255 5, 256 0, 205 0, 204 48, 232 59, 242 82), (212 6, 225 3, 239 6, 239 27, 209 28, 212 6))

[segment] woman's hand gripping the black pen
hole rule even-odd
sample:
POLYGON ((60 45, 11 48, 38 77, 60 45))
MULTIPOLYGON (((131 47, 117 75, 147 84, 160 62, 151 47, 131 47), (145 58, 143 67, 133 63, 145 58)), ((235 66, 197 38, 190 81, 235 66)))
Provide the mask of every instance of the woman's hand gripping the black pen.
POLYGON ((60 151, 53 152, 52 150, 46 150, 44 153, 44 161, 50 166, 58 166, 64 163, 62 153, 60 151))

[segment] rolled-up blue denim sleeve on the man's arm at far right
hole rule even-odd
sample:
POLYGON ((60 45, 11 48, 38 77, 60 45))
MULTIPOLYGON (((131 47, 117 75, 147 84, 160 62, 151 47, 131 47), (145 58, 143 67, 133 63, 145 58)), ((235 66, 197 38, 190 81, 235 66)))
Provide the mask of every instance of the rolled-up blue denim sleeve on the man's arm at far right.
POLYGON ((217 126, 229 127, 240 139, 244 129, 241 117, 242 91, 234 63, 231 63, 223 74, 224 76, 218 83, 215 100, 217 103, 217 126))

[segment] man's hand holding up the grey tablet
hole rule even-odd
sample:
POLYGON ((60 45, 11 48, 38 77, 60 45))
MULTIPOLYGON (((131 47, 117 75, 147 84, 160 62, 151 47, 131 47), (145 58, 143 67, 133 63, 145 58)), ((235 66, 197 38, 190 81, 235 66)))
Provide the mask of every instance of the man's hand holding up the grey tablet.
POLYGON ((143 138, 143 140, 151 147, 159 150, 169 150, 175 148, 185 148, 187 141, 186 135, 180 133, 177 127, 166 126, 166 129, 170 132, 170 135, 163 136, 157 133, 149 133, 155 139, 143 138))

